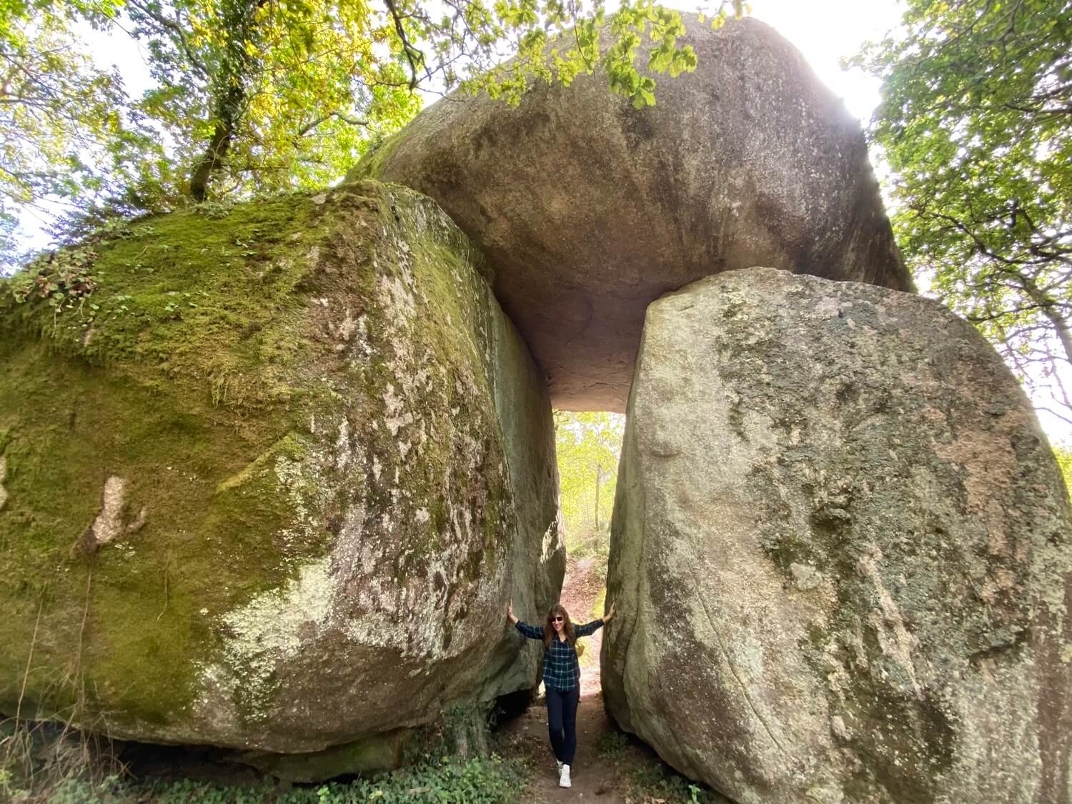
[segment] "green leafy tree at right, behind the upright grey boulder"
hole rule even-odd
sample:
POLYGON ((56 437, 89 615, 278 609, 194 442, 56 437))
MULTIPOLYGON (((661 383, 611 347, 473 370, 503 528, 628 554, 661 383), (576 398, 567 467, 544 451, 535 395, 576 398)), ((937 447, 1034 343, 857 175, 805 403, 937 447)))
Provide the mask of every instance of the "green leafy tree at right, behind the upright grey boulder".
POLYGON ((1072 3, 908 0, 853 63, 913 272, 1072 423, 1072 3))

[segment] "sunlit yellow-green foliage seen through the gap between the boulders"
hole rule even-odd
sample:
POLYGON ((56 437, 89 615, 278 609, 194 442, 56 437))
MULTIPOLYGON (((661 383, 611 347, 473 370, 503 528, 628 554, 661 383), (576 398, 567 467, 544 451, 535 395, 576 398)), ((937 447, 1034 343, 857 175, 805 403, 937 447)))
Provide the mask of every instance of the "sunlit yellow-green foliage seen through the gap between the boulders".
POLYGON ((567 550, 602 551, 609 546, 625 417, 556 411, 554 433, 567 550))

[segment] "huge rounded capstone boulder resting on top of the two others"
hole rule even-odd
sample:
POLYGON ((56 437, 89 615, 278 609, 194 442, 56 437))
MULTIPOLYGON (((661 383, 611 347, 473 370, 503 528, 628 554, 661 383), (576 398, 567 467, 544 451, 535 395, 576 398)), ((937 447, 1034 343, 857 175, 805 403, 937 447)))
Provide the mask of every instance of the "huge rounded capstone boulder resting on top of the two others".
POLYGON ((754 19, 683 17, 699 66, 656 76, 654 107, 601 72, 517 108, 450 95, 351 174, 419 190, 481 244, 557 407, 624 411, 644 309, 702 277, 911 286, 860 125, 800 53, 754 19))

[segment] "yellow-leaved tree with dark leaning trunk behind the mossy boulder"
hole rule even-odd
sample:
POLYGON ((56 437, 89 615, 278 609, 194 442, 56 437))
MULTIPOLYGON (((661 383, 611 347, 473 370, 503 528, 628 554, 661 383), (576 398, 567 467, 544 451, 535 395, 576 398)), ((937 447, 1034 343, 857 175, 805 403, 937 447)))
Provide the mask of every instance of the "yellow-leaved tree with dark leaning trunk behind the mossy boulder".
POLYGON ((368 5, 126 0, 158 86, 133 104, 174 143, 173 200, 327 185, 420 107, 368 5))

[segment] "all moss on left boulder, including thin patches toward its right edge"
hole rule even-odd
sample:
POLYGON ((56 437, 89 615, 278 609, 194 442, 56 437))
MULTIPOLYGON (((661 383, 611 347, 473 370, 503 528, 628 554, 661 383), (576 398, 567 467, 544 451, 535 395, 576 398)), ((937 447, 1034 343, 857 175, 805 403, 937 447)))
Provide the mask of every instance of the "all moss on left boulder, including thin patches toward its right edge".
POLYGON ((0 283, 0 642, 15 646, 0 711, 17 705, 32 645, 24 712, 77 705, 117 733, 181 724, 205 673, 228 667, 239 717, 258 723, 279 691, 270 662, 233 653, 224 615, 324 556, 356 505, 370 526, 412 519, 400 578, 430 571, 452 505, 482 536, 465 578, 505 555, 488 291, 434 204, 361 182, 222 220, 151 219, 96 251, 78 310, 54 317, 0 283), (420 326, 375 302, 390 282, 420 326), (344 309, 356 334, 332 329, 344 309), (403 383, 429 431, 419 460, 387 423, 403 383), (374 476, 354 467, 354 443, 374 476), (111 476, 123 524, 144 508, 144 525, 87 555, 74 548, 111 476))

